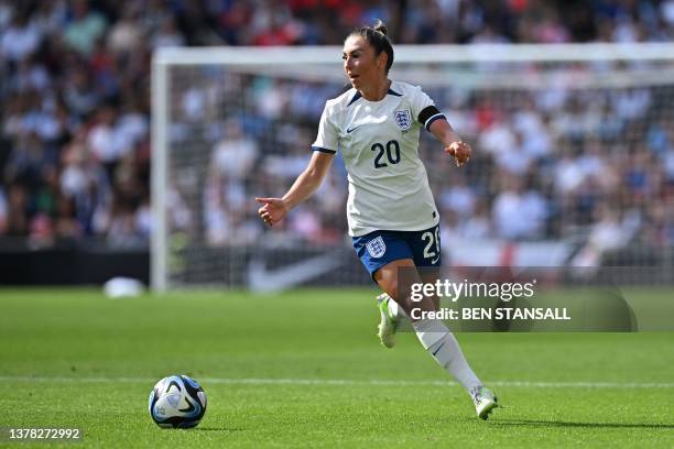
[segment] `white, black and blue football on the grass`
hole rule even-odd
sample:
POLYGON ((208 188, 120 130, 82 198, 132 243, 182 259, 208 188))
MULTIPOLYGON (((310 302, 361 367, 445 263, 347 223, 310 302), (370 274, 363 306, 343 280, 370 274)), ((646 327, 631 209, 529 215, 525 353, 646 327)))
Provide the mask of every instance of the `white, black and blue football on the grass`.
POLYGON ((206 393, 186 375, 170 375, 154 385, 148 405, 157 426, 188 429, 206 413, 206 393))

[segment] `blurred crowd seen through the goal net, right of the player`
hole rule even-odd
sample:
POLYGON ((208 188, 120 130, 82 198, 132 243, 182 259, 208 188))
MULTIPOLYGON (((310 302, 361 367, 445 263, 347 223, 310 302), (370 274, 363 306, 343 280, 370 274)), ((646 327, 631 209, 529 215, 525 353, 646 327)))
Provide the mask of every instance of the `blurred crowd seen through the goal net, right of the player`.
POLYGON ((448 98, 478 152, 469 171, 436 174, 447 238, 583 238, 579 265, 630 242, 674 244, 673 96, 666 86, 448 98))

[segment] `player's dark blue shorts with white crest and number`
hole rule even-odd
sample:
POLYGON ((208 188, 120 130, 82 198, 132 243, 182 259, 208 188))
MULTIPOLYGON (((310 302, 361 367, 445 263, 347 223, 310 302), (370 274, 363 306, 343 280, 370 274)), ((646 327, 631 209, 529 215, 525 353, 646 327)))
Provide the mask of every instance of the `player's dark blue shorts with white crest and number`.
POLYGON ((354 249, 370 276, 382 266, 412 259, 416 266, 441 266, 439 225, 425 231, 373 231, 354 237, 354 249))

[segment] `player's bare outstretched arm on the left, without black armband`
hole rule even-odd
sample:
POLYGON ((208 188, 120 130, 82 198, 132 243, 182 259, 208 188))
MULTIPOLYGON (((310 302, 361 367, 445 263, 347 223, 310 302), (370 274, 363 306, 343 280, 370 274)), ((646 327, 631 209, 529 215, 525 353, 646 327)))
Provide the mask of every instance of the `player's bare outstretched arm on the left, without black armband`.
POLYGON ((283 195, 283 198, 256 198, 262 205, 258 209, 258 215, 269 226, 274 226, 283 220, 293 207, 316 191, 334 158, 335 155, 331 153, 315 151, 307 167, 297 176, 297 179, 295 179, 290 190, 283 195))

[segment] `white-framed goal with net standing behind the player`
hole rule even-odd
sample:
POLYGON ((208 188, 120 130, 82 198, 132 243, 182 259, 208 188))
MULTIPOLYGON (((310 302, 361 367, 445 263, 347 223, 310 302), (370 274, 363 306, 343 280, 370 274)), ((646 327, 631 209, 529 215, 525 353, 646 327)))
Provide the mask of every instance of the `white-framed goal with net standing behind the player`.
MULTIPOLYGON (((674 45, 396 46, 475 153, 422 131, 444 260, 464 266, 651 266, 674 280, 674 45)), ((306 166, 339 47, 162 48, 153 61, 152 283, 279 289, 367 284, 346 234, 339 156, 264 228, 256 196, 306 166)))

